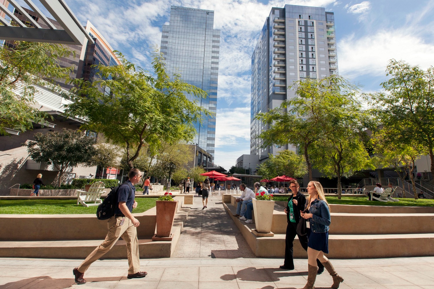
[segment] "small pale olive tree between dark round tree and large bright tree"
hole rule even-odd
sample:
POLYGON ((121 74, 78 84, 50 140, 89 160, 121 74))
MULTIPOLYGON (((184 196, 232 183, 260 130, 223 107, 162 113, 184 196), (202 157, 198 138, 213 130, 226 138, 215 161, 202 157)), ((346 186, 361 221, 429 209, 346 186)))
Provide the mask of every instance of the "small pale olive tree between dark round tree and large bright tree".
POLYGON ((121 149, 109 143, 98 143, 95 146, 94 155, 90 159, 90 166, 99 167, 99 176, 102 169, 108 167, 118 168, 120 166, 121 149))

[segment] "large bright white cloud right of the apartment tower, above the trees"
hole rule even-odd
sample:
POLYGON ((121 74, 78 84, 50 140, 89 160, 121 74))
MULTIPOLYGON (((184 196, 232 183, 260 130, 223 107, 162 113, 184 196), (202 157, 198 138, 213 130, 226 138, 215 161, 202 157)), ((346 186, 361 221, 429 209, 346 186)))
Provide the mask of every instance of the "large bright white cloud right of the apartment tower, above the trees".
POLYGON ((412 29, 382 30, 372 35, 345 37, 338 43, 339 72, 355 78, 385 75, 391 58, 427 68, 434 63, 434 44, 427 43, 412 29))

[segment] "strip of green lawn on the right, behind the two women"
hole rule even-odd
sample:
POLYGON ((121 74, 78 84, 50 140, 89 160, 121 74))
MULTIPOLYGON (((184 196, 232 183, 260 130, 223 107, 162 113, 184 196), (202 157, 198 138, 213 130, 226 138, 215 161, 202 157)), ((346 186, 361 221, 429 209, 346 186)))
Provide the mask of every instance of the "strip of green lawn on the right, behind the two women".
MULTIPOLYGON (((380 201, 368 201, 368 197, 345 197, 339 200, 338 197, 325 197, 329 204, 339 205, 368 205, 368 206, 410 206, 410 207, 434 207, 434 200, 431 199, 409 199, 398 198, 398 202, 380 202, 380 201)), ((288 201, 287 197, 276 196, 274 201, 288 201)))

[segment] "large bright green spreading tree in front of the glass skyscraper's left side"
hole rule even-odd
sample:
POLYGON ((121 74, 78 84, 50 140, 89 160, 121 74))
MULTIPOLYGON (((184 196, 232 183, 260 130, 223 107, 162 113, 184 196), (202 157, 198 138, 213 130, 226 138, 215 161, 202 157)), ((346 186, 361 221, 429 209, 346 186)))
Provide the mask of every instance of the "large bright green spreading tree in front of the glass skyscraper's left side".
POLYGON ((66 112, 85 117, 85 128, 102 132, 112 143, 125 147, 126 162, 132 168, 146 143, 157 151, 162 142, 189 141, 196 134, 194 123, 201 123, 210 112, 197 104, 207 97, 206 92, 182 81, 181 75, 171 81, 160 55, 152 62, 152 76, 116 53, 121 64, 98 65, 100 79, 73 81, 79 96, 66 112))

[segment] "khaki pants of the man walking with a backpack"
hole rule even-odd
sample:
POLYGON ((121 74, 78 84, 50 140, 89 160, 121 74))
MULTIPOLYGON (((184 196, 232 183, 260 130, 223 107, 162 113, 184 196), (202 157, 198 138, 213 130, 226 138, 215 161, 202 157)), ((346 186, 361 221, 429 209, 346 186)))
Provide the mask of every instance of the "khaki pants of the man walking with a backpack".
POLYGON ((124 217, 112 217, 107 221, 107 227, 109 227, 109 232, 105 237, 104 242, 95 248, 92 253, 80 264, 78 267, 79 272, 85 273, 89 266, 104 256, 105 253, 109 252, 110 249, 115 245, 119 237, 127 243, 127 255, 128 255, 128 274, 135 274, 140 271, 140 257, 138 254, 138 240, 137 240, 137 229, 134 227, 130 219, 125 217, 124 224, 120 226, 122 219, 124 217))

